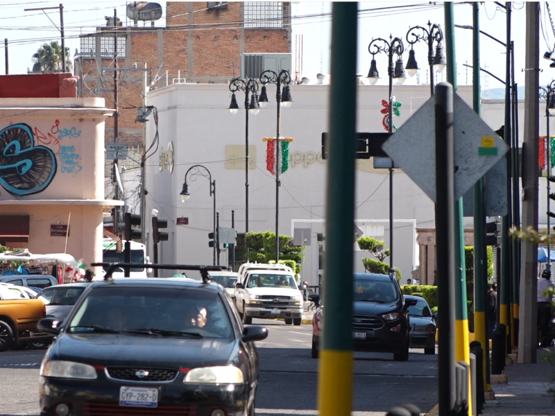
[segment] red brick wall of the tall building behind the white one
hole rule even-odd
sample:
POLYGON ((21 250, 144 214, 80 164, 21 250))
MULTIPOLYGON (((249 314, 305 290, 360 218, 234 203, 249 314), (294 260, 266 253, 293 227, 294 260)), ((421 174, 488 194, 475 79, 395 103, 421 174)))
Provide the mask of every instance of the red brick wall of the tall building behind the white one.
MULTIPOLYGON (((207 10, 206 1, 168 1, 166 28, 121 28, 128 40, 126 56, 118 59, 118 66, 137 64, 137 68, 144 68, 146 62, 148 84, 156 75, 160 76, 152 88, 171 84, 178 73, 188 83, 227 83, 241 73, 241 53, 291 52, 290 26, 245 29, 241 24, 243 9, 244 3, 240 2, 228 3, 224 10, 207 10)), ((286 23, 289 21, 285 19, 286 23)), ((77 58, 74 67, 80 77, 81 96, 103 96, 106 105, 114 108, 112 91, 86 90, 112 90, 114 71, 99 73, 99 68, 113 66, 111 58, 77 58)), ((143 74, 119 71, 118 137, 129 146, 142 145, 142 123, 135 123, 135 117, 136 107, 142 105, 143 74)), ((114 117, 110 117, 106 121, 105 140, 112 141, 113 135, 114 117)))

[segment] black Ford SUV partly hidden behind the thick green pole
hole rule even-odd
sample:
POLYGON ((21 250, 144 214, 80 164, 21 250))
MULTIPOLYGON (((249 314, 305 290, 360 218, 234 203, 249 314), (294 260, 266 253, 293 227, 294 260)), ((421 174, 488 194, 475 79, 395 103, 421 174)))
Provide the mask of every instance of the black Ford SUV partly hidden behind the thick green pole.
MULTIPOLYGON (((355 351, 393 352, 395 361, 409 359, 409 306, 393 275, 355 273, 353 288, 352 339, 355 351)), ((318 358, 323 327, 321 304, 312 320, 312 358, 318 358)))

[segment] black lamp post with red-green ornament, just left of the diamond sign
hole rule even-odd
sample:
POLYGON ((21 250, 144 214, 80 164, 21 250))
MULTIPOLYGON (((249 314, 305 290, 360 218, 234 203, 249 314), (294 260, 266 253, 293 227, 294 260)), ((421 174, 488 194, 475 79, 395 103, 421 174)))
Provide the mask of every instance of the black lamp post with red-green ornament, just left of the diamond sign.
MULTIPOLYGON (((388 130, 393 132, 393 84, 402 85, 407 75, 404 73, 402 53, 404 52, 403 41, 400 37, 392 39, 389 36, 390 42, 378 37, 372 40, 368 45, 368 52, 372 55, 372 62, 370 63, 370 71, 368 72, 368 80, 370 85, 375 85, 379 79, 375 55, 380 52, 387 53, 388 61, 388 78, 389 78, 389 115, 388 115, 388 130), (380 45, 379 43, 382 43, 380 45), (374 49, 372 49, 374 47, 374 49), (393 53, 397 54, 397 61, 393 66, 393 53)), ((391 167, 389 168, 389 266, 393 267, 393 160, 391 160, 391 167)))

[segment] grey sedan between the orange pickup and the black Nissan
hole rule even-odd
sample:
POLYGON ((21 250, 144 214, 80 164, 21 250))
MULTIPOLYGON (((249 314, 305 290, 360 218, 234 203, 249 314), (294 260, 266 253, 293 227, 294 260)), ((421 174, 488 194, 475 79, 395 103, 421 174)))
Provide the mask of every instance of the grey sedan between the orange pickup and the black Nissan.
POLYGON ((47 318, 65 320, 89 284, 89 282, 58 284, 42 289, 35 297, 44 301, 47 318))

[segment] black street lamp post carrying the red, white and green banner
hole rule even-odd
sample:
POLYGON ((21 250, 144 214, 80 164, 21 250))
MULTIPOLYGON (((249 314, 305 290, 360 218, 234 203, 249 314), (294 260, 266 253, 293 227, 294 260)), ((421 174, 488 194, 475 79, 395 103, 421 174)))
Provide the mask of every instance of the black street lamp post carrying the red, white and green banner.
POLYGON ((291 76, 289 76, 287 69, 282 69, 280 73, 267 69, 260 74, 260 83, 262 84, 262 91, 258 101, 262 106, 268 103, 266 84, 273 83, 278 87, 275 92, 275 101, 278 108, 277 132, 275 135, 275 263, 278 263, 280 260, 280 230, 278 226, 280 223, 280 172, 282 166, 280 160, 280 119, 281 107, 291 107, 291 89, 289 88, 291 76))

